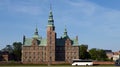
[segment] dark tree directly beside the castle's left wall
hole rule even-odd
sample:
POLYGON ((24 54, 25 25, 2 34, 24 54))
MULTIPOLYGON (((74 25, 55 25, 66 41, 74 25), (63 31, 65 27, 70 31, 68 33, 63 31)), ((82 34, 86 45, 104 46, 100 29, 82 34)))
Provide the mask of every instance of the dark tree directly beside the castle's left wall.
POLYGON ((21 61, 21 50, 22 50, 22 43, 21 42, 14 42, 13 43, 13 53, 15 61, 21 61))

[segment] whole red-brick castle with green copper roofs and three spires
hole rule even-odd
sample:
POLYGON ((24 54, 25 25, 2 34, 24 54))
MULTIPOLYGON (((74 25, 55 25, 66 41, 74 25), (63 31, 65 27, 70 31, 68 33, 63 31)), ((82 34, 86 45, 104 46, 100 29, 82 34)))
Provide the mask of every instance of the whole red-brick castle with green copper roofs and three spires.
POLYGON ((59 61, 71 63, 72 59, 79 59, 78 37, 70 38, 66 28, 60 38, 56 37, 51 9, 46 31, 47 38, 39 36, 38 28, 35 29, 32 38, 23 37, 22 63, 40 64, 59 61))

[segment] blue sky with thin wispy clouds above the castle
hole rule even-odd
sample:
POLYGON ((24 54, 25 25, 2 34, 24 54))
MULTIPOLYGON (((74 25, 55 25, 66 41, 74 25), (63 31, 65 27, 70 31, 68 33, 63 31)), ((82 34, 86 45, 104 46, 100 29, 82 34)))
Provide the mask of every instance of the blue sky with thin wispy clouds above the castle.
POLYGON ((0 49, 32 37, 36 27, 46 38, 50 3, 57 38, 66 27, 89 49, 120 50, 120 0, 0 0, 0 49))

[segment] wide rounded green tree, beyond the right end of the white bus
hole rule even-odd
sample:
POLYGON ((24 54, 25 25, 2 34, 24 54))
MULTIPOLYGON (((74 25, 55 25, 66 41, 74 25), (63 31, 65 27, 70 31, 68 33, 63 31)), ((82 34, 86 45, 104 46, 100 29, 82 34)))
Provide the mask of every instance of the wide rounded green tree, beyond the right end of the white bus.
POLYGON ((89 50, 89 54, 91 55, 91 59, 105 61, 107 60, 106 53, 103 49, 92 48, 89 50))

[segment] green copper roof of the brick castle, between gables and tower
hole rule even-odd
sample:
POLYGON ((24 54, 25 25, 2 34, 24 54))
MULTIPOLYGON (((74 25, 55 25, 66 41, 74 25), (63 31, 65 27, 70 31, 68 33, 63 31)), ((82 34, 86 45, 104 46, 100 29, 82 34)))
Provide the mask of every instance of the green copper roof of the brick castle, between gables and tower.
MULTIPOLYGON (((23 46, 31 46, 32 45, 33 38, 25 38, 25 43, 23 46)), ((47 38, 38 38, 38 41, 40 42, 38 46, 47 46, 47 38)), ((66 39, 58 38, 56 39, 56 46, 65 46, 66 39)), ((79 46, 78 41, 73 38, 71 39, 72 46, 79 46)))

